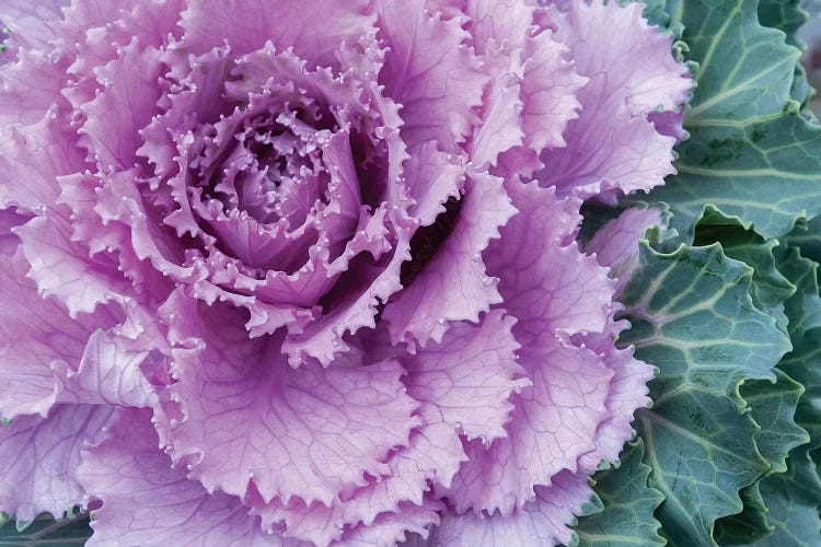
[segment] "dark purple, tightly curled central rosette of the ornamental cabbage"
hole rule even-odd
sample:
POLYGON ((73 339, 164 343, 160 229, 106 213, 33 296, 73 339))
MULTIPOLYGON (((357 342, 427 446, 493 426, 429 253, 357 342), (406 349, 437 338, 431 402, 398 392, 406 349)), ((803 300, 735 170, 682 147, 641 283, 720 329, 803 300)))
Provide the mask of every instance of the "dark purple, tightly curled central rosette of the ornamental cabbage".
MULTIPOLYGON (((360 62, 379 62, 373 47, 360 62)), ((287 327, 293 364, 326 364, 401 288, 420 222, 397 106, 373 72, 309 69, 270 42, 242 56, 177 43, 158 65, 160 113, 138 131, 136 166, 104 176, 117 208, 101 217, 130 225, 138 258, 192 295, 246 309, 252 336, 287 327)), ((106 161, 93 133, 83 140, 106 161)))

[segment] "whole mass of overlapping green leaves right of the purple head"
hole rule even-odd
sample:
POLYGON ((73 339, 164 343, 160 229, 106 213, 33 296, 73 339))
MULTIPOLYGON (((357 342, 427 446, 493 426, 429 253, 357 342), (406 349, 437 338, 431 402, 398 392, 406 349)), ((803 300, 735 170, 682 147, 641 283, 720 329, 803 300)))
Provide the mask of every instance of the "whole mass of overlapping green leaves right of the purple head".
MULTIPOLYGON (((697 88, 678 174, 622 203, 663 212, 620 295, 621 342, 658 374, 581 545, 821 542, 821 127, 798 4, 647 2, 697 88)), ((582 234, 613 216, 590 207, 582 234)))

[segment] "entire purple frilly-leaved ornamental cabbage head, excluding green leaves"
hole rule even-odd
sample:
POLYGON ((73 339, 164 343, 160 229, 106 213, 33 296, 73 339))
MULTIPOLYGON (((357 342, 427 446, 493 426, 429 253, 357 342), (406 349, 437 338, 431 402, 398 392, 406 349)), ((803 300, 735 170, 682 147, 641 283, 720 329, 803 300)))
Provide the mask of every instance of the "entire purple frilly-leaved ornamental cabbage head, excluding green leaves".
POLYGON ((673 171, 692 83, 640 4, 0 20, 2 511, 89 507, 101 546, 571 538, 652 374, 579 208, 673 171))

